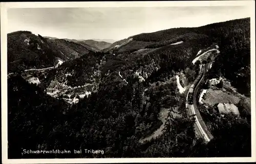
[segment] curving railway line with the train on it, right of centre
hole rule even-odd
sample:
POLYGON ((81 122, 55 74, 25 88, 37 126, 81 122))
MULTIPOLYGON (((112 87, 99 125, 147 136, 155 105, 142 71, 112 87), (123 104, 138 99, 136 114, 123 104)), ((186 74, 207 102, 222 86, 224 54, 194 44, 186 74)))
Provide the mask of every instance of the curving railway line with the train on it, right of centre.
POLYGON ((211 139, 214 138, 212 134, 207 129, 197 107, 197 92, 199 85, 201 84, 202 80, 204 79, 205 73, 207 72, 207 64, 202 64, 200 69, 199 75, 195 79, 194 83, 190 86, 187 95, 187 108, 189 115, 195 115, 195 130, 200 134, 201 138, 204 139, 206 142, 209 142, 211 139))

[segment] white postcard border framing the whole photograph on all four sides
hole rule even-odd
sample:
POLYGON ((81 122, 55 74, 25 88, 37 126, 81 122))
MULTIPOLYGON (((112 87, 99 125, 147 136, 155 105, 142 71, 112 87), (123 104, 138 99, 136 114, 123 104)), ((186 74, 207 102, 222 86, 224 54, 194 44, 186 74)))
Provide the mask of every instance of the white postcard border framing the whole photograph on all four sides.
MULTIPOLYGON (((255 2, 254 1, 179 1, 179 2, 23 2, 1 3, 1 87, 2 87, 2 157, 3 163, 105 163, 105 162, 249 162, 255 161, 255 2), (75 158, 7 159, 7 8, 77 8, 77 7, 189 7, 249 6, 251 8, 251 144, 252 157, 218 158, 75 158)), ((237 150, 240 151, 240 150, 237 150)))

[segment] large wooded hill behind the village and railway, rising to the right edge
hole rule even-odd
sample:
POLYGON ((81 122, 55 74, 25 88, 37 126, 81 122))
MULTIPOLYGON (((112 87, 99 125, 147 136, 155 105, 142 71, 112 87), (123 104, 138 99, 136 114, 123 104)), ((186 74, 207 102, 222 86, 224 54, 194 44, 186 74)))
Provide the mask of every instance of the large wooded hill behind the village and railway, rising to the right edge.
MULTIPOLYGON (((101 84, 120 83, 124 79, 137 76, 136 72, 141 72, 141 77, 154 82, 159 80, 159 76, 165 76, 172 70, 193 69, 192 61, 199 50, 207 49, 218 43, 221 54, 212 65, 208 78, 224 75, 232 81, 232 85, 238 88, 240 92, 249 94, 248 24, 249 19, 247 18, 199 28, 169 29, 135 35, 117 41, 99 53, 91 53, 88 57, 66 62, 59 68, 55 79, 60 83, 67 81, 68 85, 75 87, 85 85, 90 81, 95 83, 94 78, 97 78, 97 84, 101 86, 101 84), (230 29, 230 27, 235 28, 235 30, 230 29), (233 41, 234 38, 237 38, 236 41, 233 41), (232 47, 240 50, 233 51, 232 47), (109 54, 110 52, 111 54, 109 54), (113 55, 112 53, 116 54, 113 55), (230 61, 229 59, 238 60, 230 61), (240 61, 243 61, 243 64, 240 61), (233 68, 230 69, 230 66, 233 68), (121 72, 122 78, 120 78, 119 72, 121 72), (71 75, 66 76, 69 73, 71 75), (96 74, 97 76, 95 76, 96 74)), ((129 83, 129 81, 127 82, 129 83)))

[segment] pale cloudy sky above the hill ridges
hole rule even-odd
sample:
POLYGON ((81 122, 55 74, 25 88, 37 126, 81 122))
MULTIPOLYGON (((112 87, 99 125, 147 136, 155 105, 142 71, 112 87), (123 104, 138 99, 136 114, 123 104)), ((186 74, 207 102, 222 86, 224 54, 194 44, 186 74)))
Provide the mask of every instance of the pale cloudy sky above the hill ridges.
POLYGON ((246 6, 225 7, 113 7, 11 8, 8 33, 68 39, 113 39, 179 27, 250 17, 246 6))

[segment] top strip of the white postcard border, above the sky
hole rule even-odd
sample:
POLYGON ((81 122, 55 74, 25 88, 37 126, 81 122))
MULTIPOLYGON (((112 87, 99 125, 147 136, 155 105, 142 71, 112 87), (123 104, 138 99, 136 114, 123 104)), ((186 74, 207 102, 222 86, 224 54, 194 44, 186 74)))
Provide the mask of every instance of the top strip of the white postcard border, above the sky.
POLYGON ((252 1, 9 2, 7 8, 249 6, 252 1))

